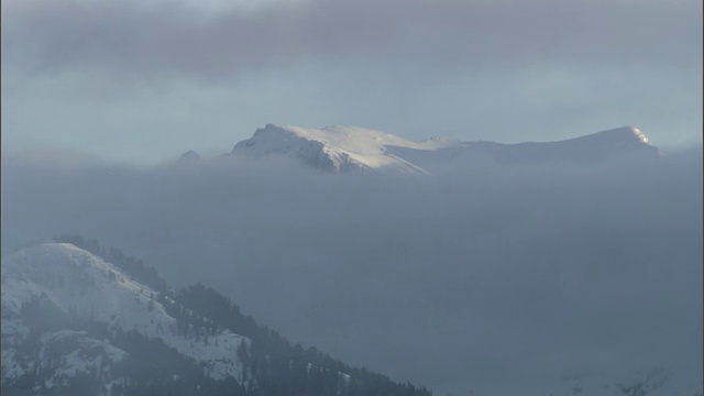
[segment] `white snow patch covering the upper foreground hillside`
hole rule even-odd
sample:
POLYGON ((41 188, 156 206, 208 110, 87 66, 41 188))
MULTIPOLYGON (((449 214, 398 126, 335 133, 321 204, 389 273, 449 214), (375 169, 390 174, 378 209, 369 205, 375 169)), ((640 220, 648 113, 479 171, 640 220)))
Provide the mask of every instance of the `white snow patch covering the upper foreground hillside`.
MULTIPOLYGON (((241 377, 242 364, 237 350, 244 338, 222 330, 206 340, 194 341, 177 333, 176 319, 156 300, 156 292, 131 279, 120 268, 67 243, 43 243, 13 253, 2 260, 2 338, 22 338, 29 330, 16 321, 22 304, 43 296, 66 312, 96 321, 136 330, 160 338, 167 345, 195 359, 213 378, 241 377)), ((101 342, 72 336, 77 342, 101 342)), ((119 351, 110 350, 113 356, 119 351)), ((12 352, 3 349, 2 365, 12 366, 12 352), (7 352, 7 353, 6 353, 7 352)), ((118 358, 116 358, 118 359, 118 358)), ((69 365, 70 366, 70 365, 69 365)))

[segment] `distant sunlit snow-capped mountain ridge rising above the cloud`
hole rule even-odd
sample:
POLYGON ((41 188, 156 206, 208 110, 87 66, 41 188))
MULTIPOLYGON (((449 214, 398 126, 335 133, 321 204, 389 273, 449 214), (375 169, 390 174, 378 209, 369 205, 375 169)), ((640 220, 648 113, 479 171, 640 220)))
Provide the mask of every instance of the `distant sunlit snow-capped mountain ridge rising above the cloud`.
POLYGON ((238 143, 231 155, 262 158, 284 155, 318 169, 376 170, 429 175, 438 166, 477 163, 600 163, 631 155, 656 156, 658 148, 630 127, 558 142, 502 144, 431 139, 411 142, 393 134, 354 128, 307 129, 267 124, 238 143))

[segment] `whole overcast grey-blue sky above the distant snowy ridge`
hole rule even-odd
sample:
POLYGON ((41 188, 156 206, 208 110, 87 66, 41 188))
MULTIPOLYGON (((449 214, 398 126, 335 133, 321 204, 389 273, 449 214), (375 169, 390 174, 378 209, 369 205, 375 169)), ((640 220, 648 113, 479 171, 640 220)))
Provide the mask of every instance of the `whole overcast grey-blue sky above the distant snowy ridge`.
POLYGON ((2 2, 2 150, 156 163, 265 123, 701 144, 701 0, 2 2))

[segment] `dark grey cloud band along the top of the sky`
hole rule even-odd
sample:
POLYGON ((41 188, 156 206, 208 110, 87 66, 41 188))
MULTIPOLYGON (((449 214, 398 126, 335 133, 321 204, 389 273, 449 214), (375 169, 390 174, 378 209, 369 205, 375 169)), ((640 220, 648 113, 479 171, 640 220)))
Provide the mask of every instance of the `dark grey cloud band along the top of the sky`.
POLYGON ((327 1, 208 13, 185 2, 3 3, 3 64, 227 80, 323 59, 514 69, 701 67, 700 1, 327 1))

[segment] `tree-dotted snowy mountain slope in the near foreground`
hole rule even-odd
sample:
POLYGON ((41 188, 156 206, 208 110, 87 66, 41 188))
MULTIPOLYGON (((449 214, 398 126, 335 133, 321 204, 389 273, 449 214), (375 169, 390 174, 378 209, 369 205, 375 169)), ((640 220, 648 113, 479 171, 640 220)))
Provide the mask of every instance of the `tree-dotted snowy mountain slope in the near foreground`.
POLYGON ((429 395, 292 345, 212 289, 62 237, 2 260, 2 393, 429 395), (114 264, 106 258, 111 258, 114 264))

